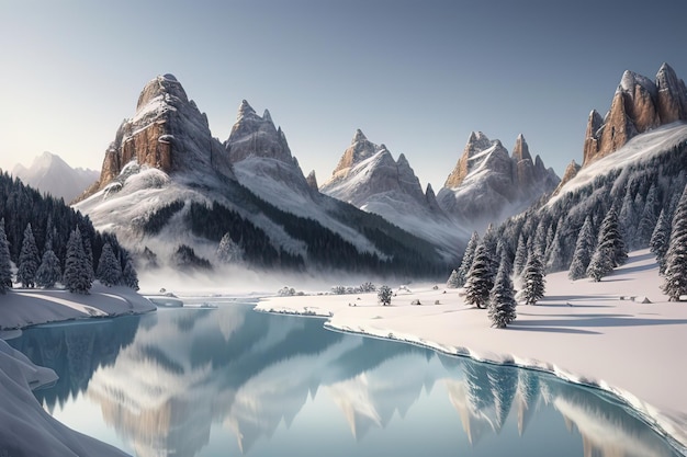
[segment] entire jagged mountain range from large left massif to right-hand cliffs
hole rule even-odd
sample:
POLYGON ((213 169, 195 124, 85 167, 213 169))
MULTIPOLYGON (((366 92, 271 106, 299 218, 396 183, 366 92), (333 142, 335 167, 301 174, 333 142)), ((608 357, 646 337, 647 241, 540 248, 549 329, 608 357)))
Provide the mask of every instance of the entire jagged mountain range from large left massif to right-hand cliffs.
POLYGON ((522 135, 509 153, 473 132, 435 194, 421 188, 404 155, 394 159, 359 129, 318 186, 269 111, 259 115, 243 101, 221 142, 179 81, 165 75, 142 91, 76 208, 151 263, 173 264, 176 251, 189 247, 192 264, 216 265, 217 243, 229 233, 246 263, 259 266, 437 272, 455 264, 471 231, 559 194, 634 136, 686 118, 685 83, 669 66, 655 81, 626 71, 608 114, 589 116, 583 165, 571 163, 563 181, 532 157, 522 135))

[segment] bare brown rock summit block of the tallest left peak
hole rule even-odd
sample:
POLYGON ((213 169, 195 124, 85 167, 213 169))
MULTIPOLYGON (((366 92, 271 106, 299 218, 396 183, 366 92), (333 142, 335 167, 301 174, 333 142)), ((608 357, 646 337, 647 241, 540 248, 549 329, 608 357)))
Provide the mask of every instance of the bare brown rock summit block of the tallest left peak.
POLYGON ((103 160, 100 179, 82 197, 98 192, 137 161, 165 173, 211 168, 233 176, 222 144, 212 137, 207 118, 172 75, 150 80, 140 92, 136 114, 117 129, 103 160))

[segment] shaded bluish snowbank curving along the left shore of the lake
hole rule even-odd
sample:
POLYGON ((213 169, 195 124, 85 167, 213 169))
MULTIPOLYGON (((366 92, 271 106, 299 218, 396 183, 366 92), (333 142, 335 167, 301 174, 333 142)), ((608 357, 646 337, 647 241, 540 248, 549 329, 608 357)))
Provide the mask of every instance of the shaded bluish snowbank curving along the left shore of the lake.
POLYGON ((57 380, 4 339, 21 329, 75 319, 109 318, 156 309, 126 287, 94 284, 90 295, 66 290, 12 289, 0 297, 0 454, 40 456, 125 456, 120 449, 75 432, 53 419, 32 390, 57 380))

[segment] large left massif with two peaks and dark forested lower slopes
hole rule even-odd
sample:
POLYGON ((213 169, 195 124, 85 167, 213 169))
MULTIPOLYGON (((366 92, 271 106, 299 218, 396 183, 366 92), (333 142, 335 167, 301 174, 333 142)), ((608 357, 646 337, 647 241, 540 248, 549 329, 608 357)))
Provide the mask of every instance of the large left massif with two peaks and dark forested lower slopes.
POLYGON ((260 267, 444 267, 427 241, 313 190, 268 112, 243 102, 219 142, 171 75, 146 84, 76 208, 151 265, 217 266, 228 233, 260 267))

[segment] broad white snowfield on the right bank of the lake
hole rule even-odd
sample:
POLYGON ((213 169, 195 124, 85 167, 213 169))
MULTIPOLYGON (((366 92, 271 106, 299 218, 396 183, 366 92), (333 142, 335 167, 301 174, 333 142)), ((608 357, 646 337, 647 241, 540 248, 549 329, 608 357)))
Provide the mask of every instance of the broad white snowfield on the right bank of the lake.
POLYGON ((388 307, 378 304, 376 294, 356 294, 268 298, 256 309, 328 317, 326 327, 333 330, 596 386, 624 399, 687 453, 687 304, 667 301, 661 284, 647 250, 631 253, 600 283, 571 282, 567 272, 554 273, 547 276, 545 298, 518 306, 517 320, 504 330, 491 328, 486 310, 465 305, 460 289, 443 284, 395 289, 388 307), (646 299, 651 302, 642 302, 646 299))

